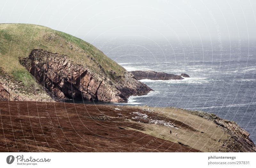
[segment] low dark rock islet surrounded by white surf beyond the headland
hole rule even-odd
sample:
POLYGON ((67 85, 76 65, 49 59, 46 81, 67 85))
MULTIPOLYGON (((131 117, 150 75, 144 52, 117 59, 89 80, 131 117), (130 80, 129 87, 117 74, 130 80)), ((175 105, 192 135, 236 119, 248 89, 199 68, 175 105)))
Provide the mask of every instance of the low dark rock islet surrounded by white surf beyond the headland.
POLYGON ((181 75, 167 74, 165 72, 155 71, 130 71, 137 80, 151 79, 151 80, 181 80, 183 77, 189 77, 187 74, 181 75))

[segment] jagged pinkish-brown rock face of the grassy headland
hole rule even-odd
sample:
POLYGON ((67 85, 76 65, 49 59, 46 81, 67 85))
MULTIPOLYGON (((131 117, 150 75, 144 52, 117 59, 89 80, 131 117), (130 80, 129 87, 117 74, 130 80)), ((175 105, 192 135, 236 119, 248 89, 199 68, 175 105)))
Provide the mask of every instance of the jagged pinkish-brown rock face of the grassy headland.
POLYGON ((128 72, 111 79, 104 72, 95 73, 90 67, 73 63, 66 55, 41 49, 32 50, 20 63, 57 99, 127 102, 131 95, 152 91, 128 72))

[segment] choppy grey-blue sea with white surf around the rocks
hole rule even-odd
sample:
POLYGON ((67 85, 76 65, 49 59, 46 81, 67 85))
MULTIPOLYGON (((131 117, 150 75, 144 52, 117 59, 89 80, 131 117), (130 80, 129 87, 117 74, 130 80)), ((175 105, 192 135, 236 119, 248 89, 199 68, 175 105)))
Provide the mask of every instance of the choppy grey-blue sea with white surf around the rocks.
POLYGON ((124 104, 214 113, 236 121, 256 143, 256 41, 186 42, 122 37, 90 42, 128 71, 154 70, 190 76, 184 80, 141 80, 154 92, 131 96, 124 104))

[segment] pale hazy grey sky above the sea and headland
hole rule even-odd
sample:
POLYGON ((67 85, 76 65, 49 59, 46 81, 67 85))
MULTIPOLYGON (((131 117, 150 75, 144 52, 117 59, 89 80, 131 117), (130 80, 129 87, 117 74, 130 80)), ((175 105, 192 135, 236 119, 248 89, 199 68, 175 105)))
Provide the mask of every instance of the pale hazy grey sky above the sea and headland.
POLYGON ((86 39, 256 39, 255 0, 1 0, 1 23, 33 23, 86 39))

